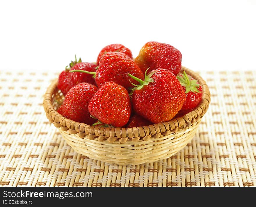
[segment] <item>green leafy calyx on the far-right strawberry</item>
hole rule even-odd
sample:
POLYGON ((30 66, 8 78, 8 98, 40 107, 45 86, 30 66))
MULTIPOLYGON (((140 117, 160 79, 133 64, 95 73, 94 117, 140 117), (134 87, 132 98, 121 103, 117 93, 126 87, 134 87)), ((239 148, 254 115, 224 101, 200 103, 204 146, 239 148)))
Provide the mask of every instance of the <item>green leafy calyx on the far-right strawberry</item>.
POLYGON ((193 93, 201 93, 198 90, 200 85, 197 83, 197 80, 193 79, 191 76, 188 76, 185 71, 183 71, 183 74, 179 74, 176 77, 179 80, 180 85, 185 87, 185 93, 190 91, 193 93))

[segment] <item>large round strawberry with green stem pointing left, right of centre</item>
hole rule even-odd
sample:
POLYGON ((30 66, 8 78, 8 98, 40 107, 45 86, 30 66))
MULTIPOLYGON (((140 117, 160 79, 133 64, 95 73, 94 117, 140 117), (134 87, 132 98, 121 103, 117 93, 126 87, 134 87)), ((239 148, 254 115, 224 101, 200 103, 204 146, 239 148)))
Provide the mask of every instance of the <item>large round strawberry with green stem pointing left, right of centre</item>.
POLYGON ((145 76, 145 81, 129 76, 141 84, 134 88, 132 94, 133 108, 138 115, 157 124, 171 120, 182 108, 185 93, 169 70, 152 70, 145 76))

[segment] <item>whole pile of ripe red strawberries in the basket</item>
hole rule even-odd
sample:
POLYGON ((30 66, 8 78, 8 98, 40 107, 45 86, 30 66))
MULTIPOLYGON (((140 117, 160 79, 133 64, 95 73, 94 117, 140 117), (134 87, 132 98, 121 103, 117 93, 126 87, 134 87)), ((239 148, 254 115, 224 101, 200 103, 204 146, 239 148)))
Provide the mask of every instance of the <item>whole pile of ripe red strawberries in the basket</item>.
POLYGON ((72 61, 58 78, 65 95, 58 113, 68 119, 102 127, 157 124, 193 110, 202 87, 181 70, 175 47, 147 42, 133 60, 122 44, 104 47, 96 63, 72 61))

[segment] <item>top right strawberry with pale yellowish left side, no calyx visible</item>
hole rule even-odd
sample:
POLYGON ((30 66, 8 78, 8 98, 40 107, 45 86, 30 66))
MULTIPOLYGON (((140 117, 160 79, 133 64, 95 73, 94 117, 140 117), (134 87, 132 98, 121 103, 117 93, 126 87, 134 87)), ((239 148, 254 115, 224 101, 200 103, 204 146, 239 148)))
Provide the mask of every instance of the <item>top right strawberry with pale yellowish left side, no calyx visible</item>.
POLYGON ((177 75, 181 69, 182 54, 170 44, 147 42, 135 58, 135 63, 145 72, 157 68, 168 69, 177 75))

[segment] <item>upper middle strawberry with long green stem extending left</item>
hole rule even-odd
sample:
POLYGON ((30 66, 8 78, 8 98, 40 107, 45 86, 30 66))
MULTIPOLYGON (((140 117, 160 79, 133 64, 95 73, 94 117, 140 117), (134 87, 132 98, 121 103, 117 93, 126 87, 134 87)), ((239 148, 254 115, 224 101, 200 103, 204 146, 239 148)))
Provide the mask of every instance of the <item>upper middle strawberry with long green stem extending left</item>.
POLYGON ((128 73, 140 79, 144 79, 141 69, 124 53, 108 52, 99 61, 99 67, 96 72, 87 72, 81 70, 71 70, 70 72, 84 72, 95 75, 95 81, 98 87, 104 83, 113 81, 118 85, 129 90, 133 88, 136 81, 128 76, 128 73))

